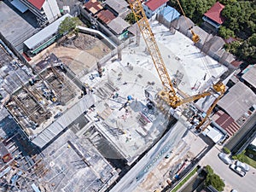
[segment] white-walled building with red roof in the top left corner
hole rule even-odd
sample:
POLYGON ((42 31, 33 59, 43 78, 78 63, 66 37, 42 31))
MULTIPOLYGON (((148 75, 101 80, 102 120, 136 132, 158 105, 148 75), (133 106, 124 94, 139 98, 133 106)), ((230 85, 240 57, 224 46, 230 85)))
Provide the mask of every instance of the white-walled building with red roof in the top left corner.
POLYGON ((14 0, 12 4, 22 5, 23 8, 29 9, 33 15, 36 15, 40 26, 51 23, 61 16, 56 0, 14 0))

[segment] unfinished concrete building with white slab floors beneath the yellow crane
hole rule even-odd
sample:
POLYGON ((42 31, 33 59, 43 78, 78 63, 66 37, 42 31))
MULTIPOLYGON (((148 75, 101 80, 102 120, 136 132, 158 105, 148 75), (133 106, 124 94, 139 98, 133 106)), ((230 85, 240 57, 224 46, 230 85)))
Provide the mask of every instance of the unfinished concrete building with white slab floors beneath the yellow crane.
MULTIPOLYGON (((157 21, 151 26, 180 96, 208 90, 227 70, 183 34, 157 21)), ((105 191, 119 177, 129 186, 122 191, 132 191, 193 127, 195 105, 174 110, 160 102, 162 84, 143 39, 127 42, 79 79, 51 54, 24 75, 26 80, 15 81, 19 86, 5 106, 32 152, 20 150, 16 161, 27 166, 16 166, 12 176, 15 166, 3 167, 4 177, 16 175, 15 184, 7 183, 25 191, 105 191)), ((120 191, 119 185, 112 191, 120 191)))

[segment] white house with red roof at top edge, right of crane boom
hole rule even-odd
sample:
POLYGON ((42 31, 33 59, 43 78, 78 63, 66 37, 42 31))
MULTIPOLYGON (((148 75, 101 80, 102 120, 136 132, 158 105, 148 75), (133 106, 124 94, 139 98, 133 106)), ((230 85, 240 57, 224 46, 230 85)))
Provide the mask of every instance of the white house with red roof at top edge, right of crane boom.
POLYGON ((148 18, 151 18, 154 14, 164 9, 168 0, 149 0, 143 3, 143 9, 148 18))

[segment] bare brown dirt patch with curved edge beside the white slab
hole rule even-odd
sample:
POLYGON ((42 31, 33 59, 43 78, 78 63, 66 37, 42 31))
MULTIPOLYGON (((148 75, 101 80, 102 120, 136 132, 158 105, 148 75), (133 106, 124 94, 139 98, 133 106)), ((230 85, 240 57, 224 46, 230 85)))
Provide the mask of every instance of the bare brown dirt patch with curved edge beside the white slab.
POLYGON ((32 65, 41 61, 49 53, 54 53, 62 62, 79 74, 82 71, 90 71, 96 67, 96 61, 107 55, 111 49, 99 38, 79 33, 75 39, 61 40, 58 44, 52 44, 32 58, 32 65))

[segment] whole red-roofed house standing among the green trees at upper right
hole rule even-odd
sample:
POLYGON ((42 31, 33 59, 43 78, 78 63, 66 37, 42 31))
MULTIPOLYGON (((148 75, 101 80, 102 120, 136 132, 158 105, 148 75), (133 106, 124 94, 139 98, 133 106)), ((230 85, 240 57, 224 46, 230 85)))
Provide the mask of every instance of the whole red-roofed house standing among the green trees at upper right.
POLYGON ((224 9, 224 5, 217 2, 211 9, 207 10, 204 14, 203 20, 215 28, 219 28, 224 23, 224 17, 221 15, 221 11, 224 9))

